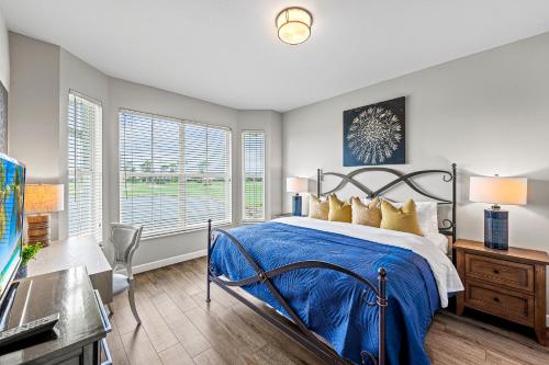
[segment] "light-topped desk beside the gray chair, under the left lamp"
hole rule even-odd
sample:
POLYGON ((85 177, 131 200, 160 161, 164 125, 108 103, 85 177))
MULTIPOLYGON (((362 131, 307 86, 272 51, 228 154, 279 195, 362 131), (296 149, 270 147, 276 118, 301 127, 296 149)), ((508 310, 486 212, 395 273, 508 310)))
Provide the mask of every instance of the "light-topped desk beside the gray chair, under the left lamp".
POLYGON ((54 241, 43 248, 36 260, 29 261, 27 276, 43 275, 70 267, 86 266, 94 289, 104 304, 112 301, 112 267, 91 236, 54 241))

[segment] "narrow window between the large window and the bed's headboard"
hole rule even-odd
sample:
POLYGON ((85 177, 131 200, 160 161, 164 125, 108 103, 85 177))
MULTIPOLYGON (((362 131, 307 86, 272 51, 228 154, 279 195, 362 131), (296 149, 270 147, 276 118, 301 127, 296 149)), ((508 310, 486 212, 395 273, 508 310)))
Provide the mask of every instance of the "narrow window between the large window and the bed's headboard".
POLYGON ((265 133, 245 130, 243 145, 243 220, 265 219, 265 133))

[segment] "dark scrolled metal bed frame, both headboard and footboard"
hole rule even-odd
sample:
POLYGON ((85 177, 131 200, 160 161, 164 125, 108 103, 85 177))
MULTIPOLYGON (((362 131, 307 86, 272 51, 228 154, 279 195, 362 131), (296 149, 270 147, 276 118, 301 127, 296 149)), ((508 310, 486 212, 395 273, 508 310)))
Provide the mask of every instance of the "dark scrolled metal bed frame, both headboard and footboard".
MULTIPOLYGON (((336 191, 341 190, 347 183, 351 183, 356 187, 358 187, 360 191, 367 194, 368 197, 376 197, 376 196, 382 196, 384 193, 393 189, 394 186, 404 183, 407 186, 410 186, 413 191, 418 193, 419 195, 429 197, 433 201, 436 201, 438 204, 449 204, 451 205, 451 220, 450 219, 444 219, 442 220, 442 227, 439 228, 439 231, 446 235, 450 235, 452 237, 452 240, 456 240, 456 164, 453 163, 451 166, 451 171, 446 171, 446 170, 421 170, 421 171, 415 171, 411 173, 402 173, 399 172, 394 169, 389 169, 389 168, 378 168, 378 167, 372 167, 372 168, 362 168, 355 170, 348 174, 343 174, 343 173, 337 173, 337 172, 323 172, 321 169, 317 170, 317 194, 318 196, 321 195, 327 195, 330 193, 334 193, 336 191), (378 171, 378 172, 386 172, 390 174, 393 174, 396 176, 393 181, 389 182, 388 184, 383 185, 382 187, 372 191, 362 183, 358 182, 355 176, 360 173, 366 173, 366 172, 372 172, 372 171, 378 171), (419 189, 411 179, 418 176, 418 175, 424 175, 424 174, 433 174, 433 173, 441 173, 442 179, 445 182, 451 182, 452 183, 452 198, 451 201, 449 199, 444 199, 440 197, 437 197, 436 195, 429 194, 425 192, 424 190, 419 189), (341 179, 341 182, 334 187, 333 190, 322 193, 322 181, 324 180, 324 176, 326 175, 335 175, 341 179)), ((305 349, 309 351, 313 352, 317 357, 321 360, 325 361, 326 363, 330 364, 350 364, 349 361, 346 358, 340 357, 328 344, 323 342, 313 331, 311 331, 304 323, 303 321, 299 318, 299 316, 295 313, 295 311, 291 308, 291 306, 288 304, 288 301, 284 299, 284 297, 280 294, 278 288, 272 284, 271 280, 278 275, 281 275, 283 273, 287 273, 289 271, 294 271, 294 270, 303 270, 303 269, 322 269, 322 270, 330 270, 330 271, 336 271, 343 274, 346 274, 355 280, 357 280, 360 283, 363 283, 368 290, 371 290, 376 300, 374 301, 368 301, 366 300, 366 296, 362 295, 362 299, 365 300, 365 304, 370 306, 370 307, 378 307, 378 313, 379 313, 379 329, 378 329, 378 334, 379 334, 379 347, 378 347, 378 356, 374 356, 368 351, 362 351, 360 353, 360 356, 362 358, 362 363, 366 364, 367 361, 371 361, 374 364, 378 365, 384 365, 385 364, 385 312, 386 312, 386 306, 388 306, 388 298, 386 298, 386 271, 383 267, 380 267, 378 271, 378 283, 377 285, 372 284, 369 280, 356 274, 355 272, 345 269, 339 265, 332 264, 329 262, 324 262, 324 261, 316 261, 316 260, 306 260, 306 261, 300 261, 295 263, 291 263, 288 265, 283 265, 277 269, 272 269, 269 271, 265 271, 257 262, 254 261, 251 255, 246 251, 244 246, 229 232, 220 229, 220 228, 212 228, 212 220, 209 219, 208 221, 208 256, 206 256, 206 264, 208 264, 208 286, 206 286, 206 301, 209 303, 211 300, 210 296, 210 286, 212 283, 216 284, 220 286, 222 289, 224 289, 226 293, 228 293, 231 296, 235 297, 239 301, 242 301, 244 305, 249 307, 251 310, 257 312, 259 316, 261 316, 264 319, 266 319, 268 322, 273 324, 276 328, 281 330, 283 333, 295 340, 298 343, 303 345, 305 349), (215 239, 217 236, 223 235, 226 236, 227 239, 238 249, 238 251, 242 253, 242 255, 246 259, 246 261, 250 264, 250 266, 255 271, 255 275, 239 280, 239 281, 231 281, 227 278, 223 278, 221 276, 217 276, 214 274, 212 266, 211 266, 211 253, 213 250, 213 247, 215 246, 215 239), (285 312, 290 316, 290 319, 293 323, 289 323, 287 320, 283 320, 280 315, 276 312, 270 312, 267 310, 264 310, 260 308, 258 305, 254 304, 253 301, 248 300, 245 298, 243 295, 238 294, 236 290, 233 289, 233 287, 242 287, 245 285, 250 285, 255 283, 260 283, 266 285, 270 294, 276 298, 276 300, 284 308, 285 312)), ((366 289, 365 289, 366 293, 366 289)))

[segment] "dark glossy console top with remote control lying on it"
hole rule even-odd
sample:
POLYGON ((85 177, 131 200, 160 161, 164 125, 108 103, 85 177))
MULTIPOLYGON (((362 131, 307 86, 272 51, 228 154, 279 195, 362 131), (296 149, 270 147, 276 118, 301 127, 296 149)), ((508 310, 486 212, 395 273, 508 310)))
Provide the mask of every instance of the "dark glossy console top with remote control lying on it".
POLYGON ((99 305, 83 266, 21 280, 8 328, 55 312, 59 313, 57 339, 37 344, 20 343, 19 347, 22 349, 0 355, 0 364, 46 363, 107 335, 99 305))

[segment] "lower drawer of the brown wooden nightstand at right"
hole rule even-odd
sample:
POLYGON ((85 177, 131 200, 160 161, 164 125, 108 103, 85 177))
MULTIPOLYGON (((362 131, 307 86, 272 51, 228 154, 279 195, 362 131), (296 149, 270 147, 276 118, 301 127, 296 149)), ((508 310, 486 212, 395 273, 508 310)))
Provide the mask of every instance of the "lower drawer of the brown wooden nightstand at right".
POLYGON ((466 305, 517 323, 534 324, 534 297, 527 294, 494 290, 490 285, 468 281, 466 284, 466 305))

